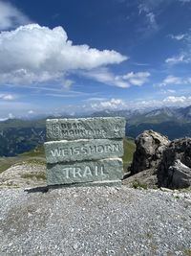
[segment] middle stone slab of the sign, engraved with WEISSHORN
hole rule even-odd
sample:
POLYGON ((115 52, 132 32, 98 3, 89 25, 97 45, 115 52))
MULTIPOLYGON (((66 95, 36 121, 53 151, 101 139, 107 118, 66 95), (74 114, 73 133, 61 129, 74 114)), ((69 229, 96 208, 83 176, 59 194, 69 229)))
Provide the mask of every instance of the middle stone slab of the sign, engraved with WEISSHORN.
POLYGON ((47 163, 98 160, 123 155, 122 140, 50 141, 44 144, 47 163))

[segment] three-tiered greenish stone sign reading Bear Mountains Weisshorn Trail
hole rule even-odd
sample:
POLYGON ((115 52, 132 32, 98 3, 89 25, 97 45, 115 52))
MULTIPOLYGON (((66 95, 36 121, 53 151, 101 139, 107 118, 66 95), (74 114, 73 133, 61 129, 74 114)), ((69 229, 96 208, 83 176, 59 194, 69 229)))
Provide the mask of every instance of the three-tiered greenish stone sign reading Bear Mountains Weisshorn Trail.
POLYGON ((48 185, 121 184, 125 124, 121 117, 48 119, 48 185))

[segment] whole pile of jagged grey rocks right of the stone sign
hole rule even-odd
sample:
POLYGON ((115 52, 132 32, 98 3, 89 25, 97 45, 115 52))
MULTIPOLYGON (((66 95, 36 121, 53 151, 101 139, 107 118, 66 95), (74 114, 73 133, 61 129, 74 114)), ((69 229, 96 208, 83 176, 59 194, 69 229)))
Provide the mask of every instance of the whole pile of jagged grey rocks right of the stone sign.
POLYGON ((138 179, 149 187, 170 189, 191 186, 191 138, 170 142, 158 132, 145 130, 138 135, 136 145, 130 167, 131 181, 138 179))

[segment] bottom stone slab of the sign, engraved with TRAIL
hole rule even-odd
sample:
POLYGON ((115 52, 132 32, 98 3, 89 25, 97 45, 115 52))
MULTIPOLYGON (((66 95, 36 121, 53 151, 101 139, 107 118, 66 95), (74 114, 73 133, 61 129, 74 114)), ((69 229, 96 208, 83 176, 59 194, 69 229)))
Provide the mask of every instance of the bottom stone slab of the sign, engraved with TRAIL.
POLYGON ((120 181, 122 175, 122 160, 120 158, 47 165, 48 185, 120 181))

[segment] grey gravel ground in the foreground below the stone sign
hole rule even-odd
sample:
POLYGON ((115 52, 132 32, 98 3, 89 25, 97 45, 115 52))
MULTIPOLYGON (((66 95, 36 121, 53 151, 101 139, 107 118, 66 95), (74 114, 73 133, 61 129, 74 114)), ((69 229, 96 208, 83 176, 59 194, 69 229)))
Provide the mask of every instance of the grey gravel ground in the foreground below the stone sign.
POLYGON ((191 194, 2 189, 0 255, 191 255, 191 194))

